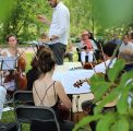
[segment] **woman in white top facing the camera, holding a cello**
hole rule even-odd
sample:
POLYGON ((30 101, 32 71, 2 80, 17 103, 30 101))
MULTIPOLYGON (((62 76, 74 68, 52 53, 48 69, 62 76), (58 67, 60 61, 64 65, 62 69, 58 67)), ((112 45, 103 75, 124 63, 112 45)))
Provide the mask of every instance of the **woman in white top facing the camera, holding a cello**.
MULTIPOLYGON (((2 56, 4 57, 16 57, 16 60, 19 60, 20 58, 22 58, 22 60, 25 62, 24 66, 26 66, 26 61, 25 61, 25 53, 22 49, 17 48, 17 38, 14 35, 9 35, 7 36, 7 43, 8 43, 8 48, 2 50, 2 56)), ((14 59, 13 59, 14 60, 14 59)), ((17 61, 16 61, 17 62, 17 61)), ((19 64, 19 63, 16 63, 19 64)), ((10 68, 10 66, 9 66, 10 68)), ((14 67, 15 68, 15 67, 14 67)), ((24 69, 23 69, 24 70, 24 69)), ((17 74, 19 72, 16 70, 12 71, 4 71, 4 87, 10 92, 13 93, 13 91, 16 90, 15 87, 15 74, 17 74)), ((12 94, 11 93, 11 94, 12 94)))

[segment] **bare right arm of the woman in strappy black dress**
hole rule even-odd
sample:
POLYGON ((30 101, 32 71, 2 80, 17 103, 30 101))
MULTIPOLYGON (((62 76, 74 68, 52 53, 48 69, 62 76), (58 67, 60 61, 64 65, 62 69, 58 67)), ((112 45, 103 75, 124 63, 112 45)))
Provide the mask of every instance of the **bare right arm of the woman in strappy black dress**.
POLYGON ((60 100, 63 103, 63 105, 68 108, 72 108, 71 100, 69 99, 68 95, 64 92, 63 85, 60 82, 56 82, 56 91, 60 98, 60 100))

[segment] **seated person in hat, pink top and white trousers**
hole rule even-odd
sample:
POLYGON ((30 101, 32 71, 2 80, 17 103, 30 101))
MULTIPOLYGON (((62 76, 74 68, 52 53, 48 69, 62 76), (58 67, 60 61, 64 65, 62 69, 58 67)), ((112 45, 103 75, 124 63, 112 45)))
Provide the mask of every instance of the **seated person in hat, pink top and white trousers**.
POLYGON ((89 39, 90 34, 87 31, 84 31, 82 34, 81 40, 81 62, 83 66, 85 62, 93 62, 94 61, 94 52, 97 50, 97 45, 93 39, 89 39), (86 60, 86 58, 88 58, 86 60))

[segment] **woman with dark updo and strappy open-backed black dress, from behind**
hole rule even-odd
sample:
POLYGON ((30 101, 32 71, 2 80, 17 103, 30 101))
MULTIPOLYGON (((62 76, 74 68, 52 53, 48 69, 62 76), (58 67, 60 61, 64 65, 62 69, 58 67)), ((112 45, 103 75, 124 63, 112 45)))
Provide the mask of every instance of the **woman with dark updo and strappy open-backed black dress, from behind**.
POLYGON ((38 68, 41 72, 39 79, 34 82, 33 96, 36 106, 51 107, 60 123, 61 131, 72 131, 73 123, 64 121, 59 111, 58 103, 64 106, 65 110, 72 108, 71 100, 64 92, 62 84, 52 80, 56 67, 53 53, 49 48, 44 48, 38 53, 38 68))

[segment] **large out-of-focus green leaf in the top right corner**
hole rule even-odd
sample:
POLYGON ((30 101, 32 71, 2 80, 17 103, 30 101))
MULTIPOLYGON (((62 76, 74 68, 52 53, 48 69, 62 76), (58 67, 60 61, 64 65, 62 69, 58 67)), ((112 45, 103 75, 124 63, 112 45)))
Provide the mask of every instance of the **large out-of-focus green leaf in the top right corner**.
POLYGON ((106 26, 121 26, 132 16, 132 0, 94 0, 95 15, 98 22, 106 26))

